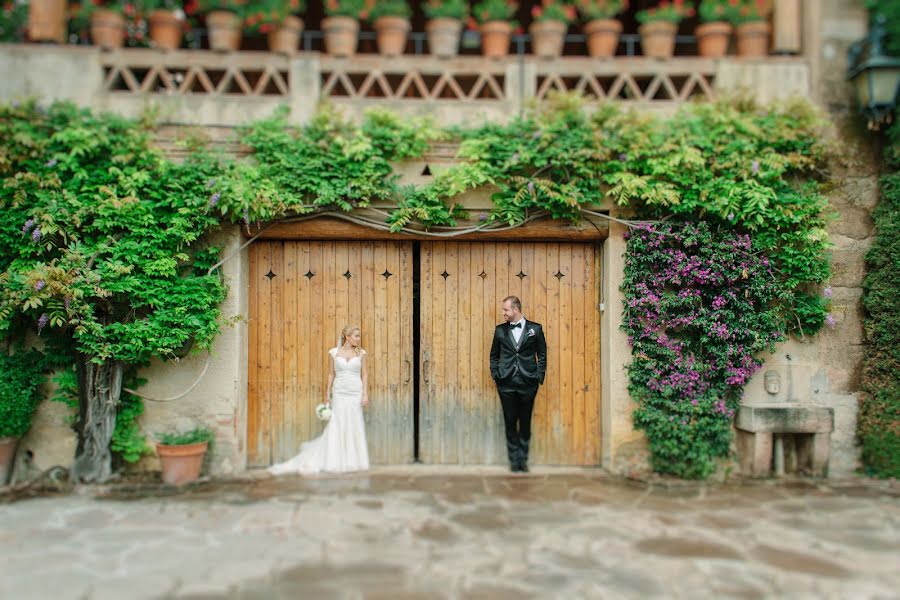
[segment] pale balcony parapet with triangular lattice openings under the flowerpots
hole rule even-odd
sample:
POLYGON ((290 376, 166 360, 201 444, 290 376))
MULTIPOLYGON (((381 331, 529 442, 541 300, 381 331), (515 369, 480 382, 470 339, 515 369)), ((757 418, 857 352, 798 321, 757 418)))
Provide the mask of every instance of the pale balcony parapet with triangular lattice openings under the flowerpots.
POLYGON ((68 99, 129 115, 154 104, 166 121, 229 126, 267 116, 283 104, 293 119, 305 121, 323 99, 347 107, 351 116, 386 104, 460 123, 508 119, 553 91, 672 110, 737 88, 768 100, 809 96, 811 87, 805 58, 774 56, 660 60, 514 54, 496 60, 358 54, 347 59, 318 52, 288 57, 259 51, 0 45, 4 73, 0 99, 68 99))

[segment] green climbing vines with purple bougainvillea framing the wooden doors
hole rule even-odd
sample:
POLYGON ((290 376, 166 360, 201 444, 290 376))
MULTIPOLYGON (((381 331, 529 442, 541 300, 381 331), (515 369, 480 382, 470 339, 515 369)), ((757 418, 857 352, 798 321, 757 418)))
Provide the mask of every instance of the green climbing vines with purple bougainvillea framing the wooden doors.
POLYGON ((662 121, 611 105, 589 112, 562 95, 508 124, 451 130, 383 111, 357 126, 326 108, 304 127, 284 113, 247 127, 247 159, 198 148, 180 165, 151 151, 135 123, 65 106, 3 110, 0 205, 14 218, 0 231, 10 282, 0 331, 55 330, 101 359, 143 364, 191 334, 209 346, 225 290, 206 275, 219 257, 202 239, 221 219, 385 200, 396 203, 386 217, 395 230, 452 226, 466 216, 458 196, 482 186, 494 190, 488 224, 537 211, 577 221, 605 198, 652 222, 629 237, 624 290, 635 423, 658 470, 708 475, 758 353, 826 322, 816 182, 826 148, 806 104, 691 105, 662 121), (393 164, 437 140, 458 142, 460 162, 426 185, 399 185, 393 164), (709 281, 684 270, 696 261, 709 281))

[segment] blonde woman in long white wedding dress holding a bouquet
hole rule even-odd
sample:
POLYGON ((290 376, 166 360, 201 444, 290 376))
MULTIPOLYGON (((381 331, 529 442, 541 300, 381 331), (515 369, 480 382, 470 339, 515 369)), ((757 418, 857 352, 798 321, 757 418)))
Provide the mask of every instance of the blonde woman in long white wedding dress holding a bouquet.
POLYGON ((332 415, 322 435, 304 443, 295 457, 269 467, 273 475, 322 471, 346 473, 369 468, 366 429, 362 407, 369 403, 366 392, 366 351, 360 348, 359 327, 347 325, 337 348, 328 351, 331 369, 325 387, 325 404, 332 415))

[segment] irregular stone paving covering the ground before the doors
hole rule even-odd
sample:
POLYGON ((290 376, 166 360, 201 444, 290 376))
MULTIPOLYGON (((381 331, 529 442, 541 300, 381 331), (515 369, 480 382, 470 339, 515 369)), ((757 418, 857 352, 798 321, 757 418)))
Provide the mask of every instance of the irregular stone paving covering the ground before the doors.
POLYGON ((409 468, 0 505, 2 598, 898 596, 896 482, 409 468))

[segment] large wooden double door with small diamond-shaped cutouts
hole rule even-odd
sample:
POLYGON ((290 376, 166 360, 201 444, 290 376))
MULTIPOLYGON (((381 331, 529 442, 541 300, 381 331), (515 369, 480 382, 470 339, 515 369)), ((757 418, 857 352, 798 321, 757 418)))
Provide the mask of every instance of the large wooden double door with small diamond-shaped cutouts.
POLYGON ((600 462, 595 245, 265 241, 250 247, 250 281, 249 465, 319 435, 327 350, 348 323, 368 352, 373 463, 505 462, 488 358, 508 295, 547 334, 532 463, 600 462))

